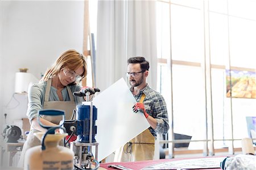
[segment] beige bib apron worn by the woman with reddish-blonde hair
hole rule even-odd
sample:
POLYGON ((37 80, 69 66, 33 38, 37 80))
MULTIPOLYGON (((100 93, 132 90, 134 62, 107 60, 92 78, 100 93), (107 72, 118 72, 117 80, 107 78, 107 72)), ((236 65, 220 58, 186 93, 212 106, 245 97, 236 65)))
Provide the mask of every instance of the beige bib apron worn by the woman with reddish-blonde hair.
MULTIPOLYGON (((66 86, 67 90, 68 90, 68 95, 69 95, 70 101, 49 101, 49 92, 51 90, 51 84, 52 84, 52 79, 49 79, 47 81, 47 85, 46 85, 46 94, 44 96, 43 109, 64 110, 65 111, 65 119, 66 120, 71 119, 73 110, 76 109, 76 103, 74 101, 74 97, 72 95, 71 89, 69 88, 69 86, 66 86)), ((43 115, 42 118, 46 119, 49 122, 59 124, 62 117, 56 117, 56 116, 51 117, 51 116, 43 115)), ((41 144, 40 140, 38 138, 36 138, 36 136, 34 135, 34 132, 38 132, 38 130, 32 129, 32 127, 31 127, 30 132, 27 136, 27 140, 24 143, 22 153, 20 155, 18 167, 23 167, 24 156, 25 156, 26 151, 31 147, 39 146, 41 144)))

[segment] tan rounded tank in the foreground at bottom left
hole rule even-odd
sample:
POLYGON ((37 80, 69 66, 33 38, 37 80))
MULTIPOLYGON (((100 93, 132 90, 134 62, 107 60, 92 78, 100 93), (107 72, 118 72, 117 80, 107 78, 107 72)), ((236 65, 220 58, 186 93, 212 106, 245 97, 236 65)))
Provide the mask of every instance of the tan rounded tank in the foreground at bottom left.
POLYGON ((35 135, 42 140, 42 146, 35 146, 26 151, 24 169, 73 169, 73 152, 67 147, 59 146, 60 140, 67 136, 67 133, 36 132, 35 135))

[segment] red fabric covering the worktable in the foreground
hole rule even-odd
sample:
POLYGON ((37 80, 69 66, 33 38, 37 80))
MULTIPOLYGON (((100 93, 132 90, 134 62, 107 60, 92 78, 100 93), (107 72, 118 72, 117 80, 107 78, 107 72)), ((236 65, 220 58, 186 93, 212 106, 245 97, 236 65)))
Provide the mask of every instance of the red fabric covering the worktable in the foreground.
MULTIPOLYGON (((208 156, 208 157, 212 157, 212 156, 208 156)), ((213 156, 213 157, 220 157, 220 156, 213 156)), ((115 165, 122 165, 123 167, 134 169, 134 170, 139 170, 139 169, 148 167, 150 165, 159 164, 159 163, 163 163, 166 161, 194 159, 194 158, 207 158, 207 157, 189 157, 189 158, 175 158, 175 159, 159 159, 159 160, 145 160, 145 161, 131 161, 131 162, 102 163, 102 164, 100 164, 100 167, 113 170, 114 168, 109 168, 108 165, 115 164, 115 165)), ((214 169, 217 170, 217 169, 221 169, 221 168, 214 168, 214 169)), ((201 170, 203 170, 203 169, 201 169, 201 170)))

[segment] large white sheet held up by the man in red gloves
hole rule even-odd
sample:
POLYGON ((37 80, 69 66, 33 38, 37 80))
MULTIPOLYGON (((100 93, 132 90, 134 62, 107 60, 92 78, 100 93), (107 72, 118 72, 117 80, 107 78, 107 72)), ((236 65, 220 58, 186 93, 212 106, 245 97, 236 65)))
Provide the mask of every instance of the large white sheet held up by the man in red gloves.
POLYGON ((135 103, 123 78, 93 99, 93 105, 98 109, 98 130, 95 137, 100 143, 98 161, 150 126, 142 113, 133 112, 135 103))

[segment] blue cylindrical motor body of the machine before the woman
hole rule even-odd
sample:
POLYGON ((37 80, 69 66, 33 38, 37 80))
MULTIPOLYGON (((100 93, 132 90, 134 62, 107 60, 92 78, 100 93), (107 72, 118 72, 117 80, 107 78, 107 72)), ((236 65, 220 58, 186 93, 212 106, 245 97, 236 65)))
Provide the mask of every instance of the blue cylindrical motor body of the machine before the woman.
MULTIPOLYGON (((90 105, 80 105, 77 107, 77 141, 89 143, 90 135, 90 105)), ((97 108, 93 106, 93 125, 92 125, 92 142, 96 142, 95 135, 97 134, 97 108)))

